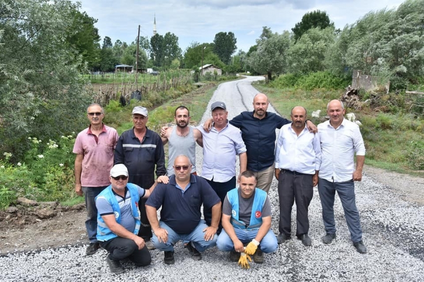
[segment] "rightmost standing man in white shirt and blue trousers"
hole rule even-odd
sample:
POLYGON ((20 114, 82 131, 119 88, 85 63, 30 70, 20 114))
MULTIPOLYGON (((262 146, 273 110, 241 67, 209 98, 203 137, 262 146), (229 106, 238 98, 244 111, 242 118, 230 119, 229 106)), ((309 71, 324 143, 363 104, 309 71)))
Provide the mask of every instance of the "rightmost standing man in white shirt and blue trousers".
POLYGON ((353 245, 359 253, 366 253, 367 248, 362 242, 362 229, 356 207, 354 185, 354 181, 362 180, 362 168, 365 161, 364 140, 359 126, 343 117, 345 108, 340 100, 331 100, 328 103, 327 114, 330 120, 318 125, 322 152, 318 191, 326 232, 322 241, 330 244, 336 237, 333 206, 337 191, 353 245))

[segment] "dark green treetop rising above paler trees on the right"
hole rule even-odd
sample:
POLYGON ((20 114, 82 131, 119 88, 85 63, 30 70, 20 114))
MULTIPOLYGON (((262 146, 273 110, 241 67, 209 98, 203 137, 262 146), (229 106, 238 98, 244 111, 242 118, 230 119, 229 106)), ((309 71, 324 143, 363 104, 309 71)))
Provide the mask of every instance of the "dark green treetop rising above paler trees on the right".
POLYGON ((333 27, 334 23, 330 22, 330 18, 326 11, 312 11, 303 15, 302 20, 295 24, 291 29, 294 34, 294 40, 298 40, 308 29, 319 27, 321 29, 333 27))

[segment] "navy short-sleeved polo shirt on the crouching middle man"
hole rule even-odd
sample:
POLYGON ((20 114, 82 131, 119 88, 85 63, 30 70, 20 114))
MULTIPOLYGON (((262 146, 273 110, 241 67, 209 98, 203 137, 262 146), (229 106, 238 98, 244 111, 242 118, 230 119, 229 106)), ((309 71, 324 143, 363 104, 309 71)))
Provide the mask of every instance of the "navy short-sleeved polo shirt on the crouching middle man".
POLYGON ((191 233, 201 220, 201 206, 212 208, 220 202, 208 182, 195 175, 184 190, 179 188, 175 176, 168 184, 159 183, 147 199, 146 205, 161 209, 161 221, 179 234, 191 233))

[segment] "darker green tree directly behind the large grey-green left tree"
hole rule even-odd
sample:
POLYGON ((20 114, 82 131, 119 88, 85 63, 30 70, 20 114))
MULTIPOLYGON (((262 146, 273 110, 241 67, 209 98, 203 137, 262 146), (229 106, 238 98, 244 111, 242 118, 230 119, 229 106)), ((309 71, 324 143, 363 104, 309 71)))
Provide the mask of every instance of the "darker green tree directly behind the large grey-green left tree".
POLYGON ((98 29, 94 27, 97 19, 87 15, 86 12, 80 12, 72 9, 72 25, 69 27, 66 40, 82 57, 87 68, 92 70, 100 62, 100 36, 98 29))

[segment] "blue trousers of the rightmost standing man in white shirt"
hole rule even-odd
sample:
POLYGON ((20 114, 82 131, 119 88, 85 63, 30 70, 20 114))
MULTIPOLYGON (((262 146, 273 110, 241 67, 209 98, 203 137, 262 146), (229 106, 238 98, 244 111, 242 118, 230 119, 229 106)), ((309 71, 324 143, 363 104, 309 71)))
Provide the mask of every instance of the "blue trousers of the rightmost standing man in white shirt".
POLYGON ((319 179, 318 192, 321 198, 322 220, 324 221, 325 232, 327 234, 336 233, 336 222, 334 220, 334 197, 336 191, 345 212, 350 238, 353 243, 359 242, 362 240, 362 229, 355 202, 355 184, 353 180, 333 183, 322 178, 319 179))

